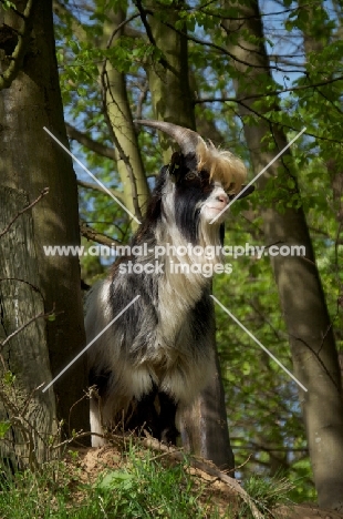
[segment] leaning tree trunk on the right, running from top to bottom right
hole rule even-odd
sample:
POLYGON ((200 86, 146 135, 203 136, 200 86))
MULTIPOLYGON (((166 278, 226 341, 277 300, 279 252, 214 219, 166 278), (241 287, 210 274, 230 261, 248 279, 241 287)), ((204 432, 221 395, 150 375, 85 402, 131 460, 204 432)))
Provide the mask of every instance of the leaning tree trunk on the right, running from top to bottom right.
MULTIPOLYGON (((228 4, 227 7, 232 7, 228 4)), ((240 7, 239 21, 224 21, 228 33, 228 50, 237 60, 239 79, 235 81, 237 98, 260 93, 260 85, 271 82, 269 60, 263 44, 263 31, 257 1, 240 7), (245 37, 246 34, 246 37, 245 37), (251 38, 252 37, 252 38, 251 38), (245 63, 243 63, 245 62, 245 63), (247 63, 250 64, 248 68, 247 63)), ((240 114, 251 115, 253 101, 240 104, 240 114)), ((259 112, 279 110, 259 100, 259 112)), ((256 113, 256 112, 254 112, 256 113)), ((261 116, 257 125, 245 124, 253 170, 259 173, 287 144, 283 130, 267 123, 261 116), (272 135, 270 134, 270 130, 272 135), (274 143, 270 153, 268 144, 274 143)), ((268 177, 292 179, 291 154, 269 167, 259 183, 268 177), (282 172, 282 174, 281 174, 282 172)), ((282 186, 284 189, 284 185, 282 186)), ((285 207, 284 201, 284 207, 285 207)), ((343 403, 340 366, 312 244, 303 210, 287 208, 282 214, 274 207, 262 210, 267 244, 304 245, 305 257, 274 256, 272 268, 278 284, 281 307, 287 323, 294 375, 308 388, 300 390, 300 401, 306 427, 314 482, 322 507, 343 509, 343 403)))

